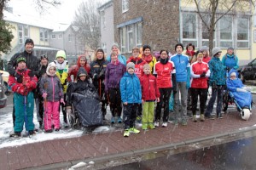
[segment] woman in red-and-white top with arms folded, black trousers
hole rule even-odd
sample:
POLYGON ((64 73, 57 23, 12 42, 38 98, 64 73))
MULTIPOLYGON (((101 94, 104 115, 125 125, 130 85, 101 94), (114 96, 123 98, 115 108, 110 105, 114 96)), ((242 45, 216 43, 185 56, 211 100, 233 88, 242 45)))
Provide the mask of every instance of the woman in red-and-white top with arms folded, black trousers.
POLYGON ((202 61, 203 54, 197 54, 197 61, 191 65, 190 74, 192 77, 191 81, 191 96, 192 96, 192 114, 193 121, 197 122, 196 119, 196 106, 198 96, 200 97, 200 120, 205 121, 204 109, 205 99, 207 98, 207 77, 210 77, 210 70, 207 63, 202 61))

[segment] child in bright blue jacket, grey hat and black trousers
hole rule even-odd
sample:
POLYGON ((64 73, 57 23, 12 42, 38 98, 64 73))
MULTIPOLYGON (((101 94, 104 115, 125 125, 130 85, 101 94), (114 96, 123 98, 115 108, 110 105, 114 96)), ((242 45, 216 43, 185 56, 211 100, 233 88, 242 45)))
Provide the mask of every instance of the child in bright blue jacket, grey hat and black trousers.
POLYGON ((138 77, 134 74, 135 65, 130 62, 126 65, 126 72, 120 82, 121 99, 124 106, 123 121, 125 124, 124 137, 128 137, 130 133, 139 133, 135 128, 135 120, 137 117, 137 107, 142 103, 142 91, 138 77))

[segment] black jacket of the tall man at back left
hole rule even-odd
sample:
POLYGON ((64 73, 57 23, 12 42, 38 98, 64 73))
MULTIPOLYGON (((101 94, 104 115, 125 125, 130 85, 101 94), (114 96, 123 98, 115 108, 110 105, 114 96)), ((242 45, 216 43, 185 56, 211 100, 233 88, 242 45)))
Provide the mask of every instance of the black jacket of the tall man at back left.
POLYGON ((39 71, 39 65, 40 65, 40 59, 38 59, 36 56, 34 56, 32 53, 29 54, 26 51, 22 53, 15 54, 8 62, 7 65, 7 71, 10 75, 15 76, 15 69, 16 69, 16 59, 18 57, 25 57, 26 59, 26 68, 31 70, 34 75, 38 76, 39 71))

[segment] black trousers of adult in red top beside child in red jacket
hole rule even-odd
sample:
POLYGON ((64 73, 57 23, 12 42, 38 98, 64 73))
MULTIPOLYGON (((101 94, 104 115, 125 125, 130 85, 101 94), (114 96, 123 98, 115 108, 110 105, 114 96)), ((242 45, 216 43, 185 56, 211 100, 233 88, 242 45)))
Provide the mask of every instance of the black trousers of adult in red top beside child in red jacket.
POLYGON ((160 102, 157 103, 155 109, 155 121, 160 121, 162 105, 164 104, 163 122, 168 122, 169 119, 169 99, 172 94, 172 88, 159 88, 160 102))

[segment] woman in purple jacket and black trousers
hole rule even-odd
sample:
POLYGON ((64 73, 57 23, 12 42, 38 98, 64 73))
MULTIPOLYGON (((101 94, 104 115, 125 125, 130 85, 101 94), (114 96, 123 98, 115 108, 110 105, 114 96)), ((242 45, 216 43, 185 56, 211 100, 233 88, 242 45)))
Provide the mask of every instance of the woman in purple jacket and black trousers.
POLYGON ((122 123, 121 119, 121 94, 119 90, 119 82, 125 74, 125 65, 120 63, 118 54, 112 52, 111 62, 108 63, 105 73, 105 93, 109 95, 110 111, 112 113, 111 123, 115 122, 115 116, 118 116, 118 122, 122 123))

